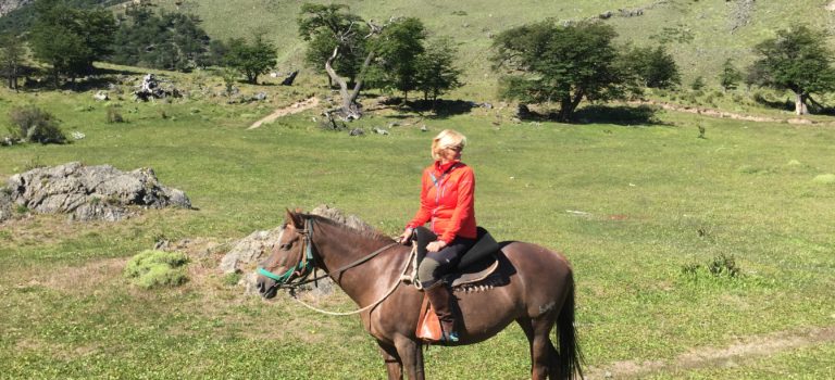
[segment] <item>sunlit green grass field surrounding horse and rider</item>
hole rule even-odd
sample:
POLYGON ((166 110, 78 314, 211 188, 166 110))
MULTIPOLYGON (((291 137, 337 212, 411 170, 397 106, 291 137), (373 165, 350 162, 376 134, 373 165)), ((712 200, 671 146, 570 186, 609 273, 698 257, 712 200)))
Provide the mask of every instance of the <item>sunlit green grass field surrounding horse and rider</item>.
MULTIPOLYGON (((86 135, 1 148, 0 178, 70 161, 149 166, 198 208, 117 224, 28 215, 0 225, 0 378, 382 378, 358 318, 313 314, 286 296, 245 296, 217 273, 216 254, 192 257, 191 281, 173 290, 140 290, 121 271, 160 239, 239 239, 281 224, 285 207, 326 203, 398 233, 416 207, 431 137, 444 128, 470 139, 464 161, 476 170, 479 224, 573 263, 593 376, 835 375, 833 340, 809 337, 835 326, 835 186, 813 180, 835 173, 831 126, 678 113, 634 126, 513 123, 507 109, 475 109, 420 121, 377 112, 352 125, 403 125, 388 136, 325 131, 315 112, 246 130, 309 94, 265 88, 266 104, 126 102, 125 124, 105 124, 105 105, 88 92, 0 92, 0 115, 35 103, 65 131, 86 135), (710 275, 718 257, 733 258, 741 276, 710 275), (770 337, 808 344, 715 365, 681 359, 770 337), (630 364, 639 370, 622 370, 630 364)), ((340 294, 319 304, 354 307, 340 294)), ((432 379, 527 377, 516 327, 475 346, 433 347, 426 358, 432 379)))

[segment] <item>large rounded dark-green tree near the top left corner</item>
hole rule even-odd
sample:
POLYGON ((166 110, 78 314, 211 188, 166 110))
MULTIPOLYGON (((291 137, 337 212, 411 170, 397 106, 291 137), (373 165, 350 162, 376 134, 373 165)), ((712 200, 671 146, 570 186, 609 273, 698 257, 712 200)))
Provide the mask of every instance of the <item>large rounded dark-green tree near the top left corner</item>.
POLYGON ((110 53, 115 20, 104 9, 73 9, 59 0, 35 3, 38 18, 30 43, 35 58, 52 66, 55 86, 60 76, 74 79, 94 72, 94 61, 110 53))

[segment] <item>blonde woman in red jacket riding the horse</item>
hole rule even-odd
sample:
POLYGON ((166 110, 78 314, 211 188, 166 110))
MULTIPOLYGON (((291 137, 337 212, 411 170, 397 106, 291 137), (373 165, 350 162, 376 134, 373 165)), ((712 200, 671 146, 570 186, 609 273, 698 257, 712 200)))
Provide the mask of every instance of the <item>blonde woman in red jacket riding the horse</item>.
MULTIPOLYGON (((423 170, 421 207, 406 226, 400 242, 409 243, 415 228, 431 223, 431 241, 426 256, 418 267, 421 286, 429 299, 441 326, 441 341, 457 342, 456 317, 450 304, 450 290, 440 278, 458 265, 461 255, 475 243, 475 176, 461 162, 466 137, 445 129, 432 140, 435 162, 423 170)), ((419 243, 422 240, 419 236, 419 243)))

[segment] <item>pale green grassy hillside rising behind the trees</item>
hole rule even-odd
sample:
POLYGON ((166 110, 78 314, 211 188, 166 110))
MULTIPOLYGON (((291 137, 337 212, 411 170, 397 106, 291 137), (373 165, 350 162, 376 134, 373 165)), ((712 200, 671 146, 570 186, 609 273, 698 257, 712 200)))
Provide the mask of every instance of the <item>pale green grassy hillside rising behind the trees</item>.
MULTIPOLYGON (((317 1, 324 3, 324 1, 317 1)), ((446 1, 342 1, 366 18, 416 16, 436 36, 459 42, 459 65, 470 84, 491 87, 487 58, 491 37, 513 26, 554 18, 581 21, 601 18, 618 30, 621 42, 669 43, 683 69, 684 83, 703 76, 715 84, 722 63, 751 61, 751 48, 774 31, 795 24, 832 30, 835 28, 830 1, 697 1, 697 0, 520 0, 508 7, 500 0, 446 1)), ((247 37, 264 33, 279 49, 278 61, 298 67, 304 43, 297 36, 296 18, 301 2, 260 0, 158 0, 164 9, 175 3, 199 15, 213 38, 247 37)), ((482 86, 475 86, 475 93, 482 86)))

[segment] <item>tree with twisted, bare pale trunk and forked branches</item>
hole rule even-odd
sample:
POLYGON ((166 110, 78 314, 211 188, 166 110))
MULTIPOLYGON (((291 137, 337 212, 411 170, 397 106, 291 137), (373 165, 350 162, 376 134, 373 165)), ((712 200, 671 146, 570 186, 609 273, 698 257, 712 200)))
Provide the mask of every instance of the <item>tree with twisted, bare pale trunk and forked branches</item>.
MULTIPOLYGON (((348 7, 344 4, 319 5, 304 3, 301 5, 301 12, 298 20, 299 35, 306 41, 317 41, 317 50, 323 50, 324 41, 329 39, 333 46, 331 55, 327 55, 324 62, 325 72, 331 80, 339 86, 339 93, 342 98, 339 107, 340 117, 344 119, 356 119, 362 116, 357 98, 362 90, 363 78, 369 66, 374 60, 375 51, 366 49, 370 38, 378 36, 386 25, 376 25, 371 21, 363 21, 360 16, 349 13, 348 7), (325 40, 323 40, 325 39, 325 40), (361 56, 359 52, 364 53, 362 64, 351 66, 351 56, 361 56), (356 71, 353 89, 349 91, 348 81, 341 77, 335 65, 349 58, 349 63, 344 67, 359 67, 356 71)), ((353 61, 356 62, 356 61, 353 61)))

